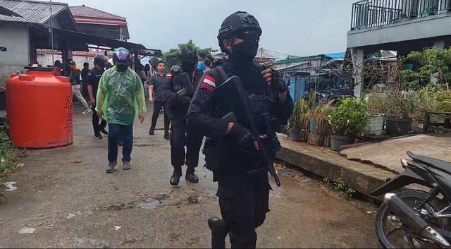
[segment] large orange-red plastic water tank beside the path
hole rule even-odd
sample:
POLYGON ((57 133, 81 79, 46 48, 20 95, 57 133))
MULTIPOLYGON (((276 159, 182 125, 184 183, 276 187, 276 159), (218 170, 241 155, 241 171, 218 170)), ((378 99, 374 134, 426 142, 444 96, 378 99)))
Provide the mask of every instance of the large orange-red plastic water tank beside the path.
POLYGON ((26 68, 6 80, 10 138, 17 147, 52 148, 73 142, 72 87, 50 68, 26 68))

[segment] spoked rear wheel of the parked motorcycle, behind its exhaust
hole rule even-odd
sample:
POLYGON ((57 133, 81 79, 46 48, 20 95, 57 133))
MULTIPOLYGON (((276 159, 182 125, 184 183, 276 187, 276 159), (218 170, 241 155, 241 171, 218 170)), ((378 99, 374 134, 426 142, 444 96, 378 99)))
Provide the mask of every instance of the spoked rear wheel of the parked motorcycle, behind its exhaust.
MULTIPOLYGON (((415 207, 417 202, 424 200, 427 193, 421 190, 407 190, 397 193, 397 196, 407 203, 410 207, 415 207)), ((433 198, 424 205, 423 209, 432 214, 432 212, 440 211, 440 207, 446 206, 441 203, 438 198, 433 198)), ((443 219, 430 219, 428 224, 445 229, 446 222, 443 219)), ((383 203, 378 209, 376 215, 376 235, 384 248, 440 248, 440 245, 432 243, 421 238, 412 238, 408 233, 408 227, 402 224, 402 221, 396 214, 388 209, 383 203)))

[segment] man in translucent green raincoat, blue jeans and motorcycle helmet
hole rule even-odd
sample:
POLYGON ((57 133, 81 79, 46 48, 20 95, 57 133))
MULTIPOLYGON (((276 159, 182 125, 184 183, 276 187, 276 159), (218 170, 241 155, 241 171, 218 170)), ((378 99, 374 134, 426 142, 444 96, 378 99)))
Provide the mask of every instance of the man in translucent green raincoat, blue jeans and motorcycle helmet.
POLYGON ((140 76, 128 67, 132 55, 124 48, 113 53, 114 66, 101 75, 97 91, 96 111, 109 126, 108 167, 114 171, 118 162, 118 138, 123 136, 122 168, 130 169, 133 146, 133 122, 136 117, 144 121, 146 104, 140 76))

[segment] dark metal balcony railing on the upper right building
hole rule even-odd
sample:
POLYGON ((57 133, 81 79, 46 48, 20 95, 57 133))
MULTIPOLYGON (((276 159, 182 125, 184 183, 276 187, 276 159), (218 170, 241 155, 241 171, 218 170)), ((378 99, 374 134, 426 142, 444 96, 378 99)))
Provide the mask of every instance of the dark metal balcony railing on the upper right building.
POLYGON ((352 4, 351 30, 451 13, 451 0, 364 0, 352 4))

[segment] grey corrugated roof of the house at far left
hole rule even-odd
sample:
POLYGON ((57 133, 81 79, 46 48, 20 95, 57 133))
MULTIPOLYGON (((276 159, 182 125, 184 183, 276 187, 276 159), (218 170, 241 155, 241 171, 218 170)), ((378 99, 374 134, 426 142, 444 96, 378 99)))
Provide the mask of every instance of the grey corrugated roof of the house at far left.
MULTIPOLYGON (((18 1, 18 0, 0 0, 0 6, 18 13, 22 17, 0 15, 0 20, 22 23, 40 23, 44 24, 50 19, 50 4, 48 1, 18 1)), ((58 13, 68 8, 68 4, 52 2, 52 14, 58 13)))

